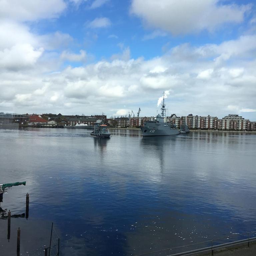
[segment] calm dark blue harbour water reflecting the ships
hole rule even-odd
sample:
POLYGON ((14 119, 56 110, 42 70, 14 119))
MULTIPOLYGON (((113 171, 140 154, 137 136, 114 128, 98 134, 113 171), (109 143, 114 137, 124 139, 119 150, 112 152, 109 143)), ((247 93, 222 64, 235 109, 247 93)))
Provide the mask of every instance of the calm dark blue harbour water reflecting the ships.
POLYGON ((0 255, 16 255, 18 227, 22 255, 43 255, 52 222, 65 256, 136 255, 256 229, 256 134, 89 132, 0 130, 0 183, 27 181, 0 206, 24 213, 30 195, 9 242, 0 219, 0 255))

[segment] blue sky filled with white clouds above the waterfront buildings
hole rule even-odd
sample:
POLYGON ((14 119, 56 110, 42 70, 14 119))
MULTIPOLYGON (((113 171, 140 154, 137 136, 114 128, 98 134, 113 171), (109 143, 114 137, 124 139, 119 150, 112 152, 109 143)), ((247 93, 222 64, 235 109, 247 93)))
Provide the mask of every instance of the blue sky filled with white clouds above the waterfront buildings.
POLYGON ((0 112, 256 121, 253 0, 0 0, 0 112))

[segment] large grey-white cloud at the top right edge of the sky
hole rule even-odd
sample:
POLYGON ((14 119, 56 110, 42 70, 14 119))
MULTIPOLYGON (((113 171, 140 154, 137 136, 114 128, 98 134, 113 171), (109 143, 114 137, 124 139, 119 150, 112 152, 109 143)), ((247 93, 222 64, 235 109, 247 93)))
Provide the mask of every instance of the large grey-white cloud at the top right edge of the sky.
POLYGON ((213 31, 224 23, 240 23, 251 5, 220 3, 218 0, 132 0, 131 13, 146 26, 173 35, 213 31))

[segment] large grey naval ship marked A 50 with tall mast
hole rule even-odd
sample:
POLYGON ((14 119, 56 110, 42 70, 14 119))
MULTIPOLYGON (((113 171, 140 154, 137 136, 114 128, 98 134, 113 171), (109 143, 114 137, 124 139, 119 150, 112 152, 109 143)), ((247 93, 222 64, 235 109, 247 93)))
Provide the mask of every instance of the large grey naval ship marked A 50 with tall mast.
POLYGON ((143 137, 145 136, 163 136, 163 135, 176 135, 179 134, 179 130, 176 129, 176 125, 166 122, 166 108, 163 103, 161 107, 161 115, 157 115, 153 121, 146 121, 143 126, 140 127, 143 137))

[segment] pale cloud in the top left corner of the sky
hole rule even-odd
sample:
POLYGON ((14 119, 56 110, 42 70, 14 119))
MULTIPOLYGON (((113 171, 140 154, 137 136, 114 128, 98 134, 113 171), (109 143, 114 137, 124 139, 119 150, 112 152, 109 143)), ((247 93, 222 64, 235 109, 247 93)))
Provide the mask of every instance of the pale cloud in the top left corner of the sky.
POLYGON ((66 8, 63 0, 0 1, 0 17, 16 21, 35 21, 58 17, 66 8))

